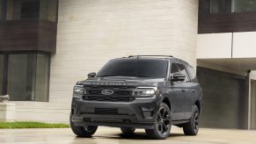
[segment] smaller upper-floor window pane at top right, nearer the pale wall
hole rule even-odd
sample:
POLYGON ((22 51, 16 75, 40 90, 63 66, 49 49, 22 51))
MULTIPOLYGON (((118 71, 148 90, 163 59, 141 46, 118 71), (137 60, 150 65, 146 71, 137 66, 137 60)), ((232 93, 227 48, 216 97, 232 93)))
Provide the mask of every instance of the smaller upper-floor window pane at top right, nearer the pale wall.
POLYGON ((210 0, 210 13, 226 13, 226 1, 210 0))

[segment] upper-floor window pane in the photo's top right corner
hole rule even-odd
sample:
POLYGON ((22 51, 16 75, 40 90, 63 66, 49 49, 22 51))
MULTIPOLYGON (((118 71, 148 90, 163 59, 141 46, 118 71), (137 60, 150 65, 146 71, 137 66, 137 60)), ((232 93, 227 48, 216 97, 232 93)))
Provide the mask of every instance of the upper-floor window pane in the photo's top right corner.
POLYGON ((232 12, 256 11, 256 0, 232 0, 232 12))

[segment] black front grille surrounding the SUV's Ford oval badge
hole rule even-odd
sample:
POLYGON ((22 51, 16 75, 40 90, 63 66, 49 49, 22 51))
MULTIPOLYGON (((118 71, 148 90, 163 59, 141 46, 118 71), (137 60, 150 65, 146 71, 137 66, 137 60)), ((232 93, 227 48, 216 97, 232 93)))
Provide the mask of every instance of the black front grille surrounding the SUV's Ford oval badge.
POLYGON ((134 86, 115 86, 115 85, 90 85, 85 86, 86 95, 84 100, 88 101, 106 101, 106 102, 131 102, 135 100, 132 97, 134 86), (112 95, 102 94, 102 90, 113 90, 112 95))

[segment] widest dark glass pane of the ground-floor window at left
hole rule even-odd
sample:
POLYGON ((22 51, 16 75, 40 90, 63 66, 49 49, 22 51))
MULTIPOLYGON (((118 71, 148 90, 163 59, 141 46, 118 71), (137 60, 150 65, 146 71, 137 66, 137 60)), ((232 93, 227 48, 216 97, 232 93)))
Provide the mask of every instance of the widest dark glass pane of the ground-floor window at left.
POLYGON ((11 100, 34 100, 36 54, 10 54, 8 61, 8 94, 11 100))

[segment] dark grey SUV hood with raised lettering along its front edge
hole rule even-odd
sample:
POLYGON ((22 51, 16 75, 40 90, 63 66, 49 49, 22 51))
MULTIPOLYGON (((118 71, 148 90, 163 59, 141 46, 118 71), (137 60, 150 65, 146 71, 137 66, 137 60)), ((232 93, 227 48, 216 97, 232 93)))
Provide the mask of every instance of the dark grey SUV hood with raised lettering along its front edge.
POLYGON ((81 85, 133 85, 133 86, 157 86, 164 83, 165 78, 132 77, 132 76, 106 76, 93 77, 85 81, 77 82, 81 85))

